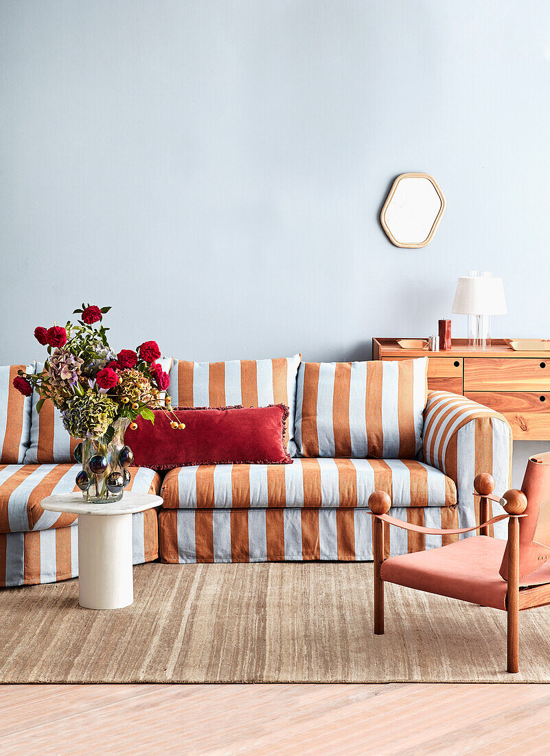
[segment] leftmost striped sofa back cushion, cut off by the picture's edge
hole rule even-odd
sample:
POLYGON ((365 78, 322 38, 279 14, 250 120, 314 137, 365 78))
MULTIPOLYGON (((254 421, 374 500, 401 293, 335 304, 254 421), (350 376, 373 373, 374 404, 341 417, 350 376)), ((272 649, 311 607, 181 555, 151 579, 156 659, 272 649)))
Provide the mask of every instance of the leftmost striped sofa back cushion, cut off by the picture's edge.
POLYGON ((17 370, 33 373, 34 365, 0 367, 0 463, 3 464, 22 463, 30 443, 32 397, 14 389, 17 370))

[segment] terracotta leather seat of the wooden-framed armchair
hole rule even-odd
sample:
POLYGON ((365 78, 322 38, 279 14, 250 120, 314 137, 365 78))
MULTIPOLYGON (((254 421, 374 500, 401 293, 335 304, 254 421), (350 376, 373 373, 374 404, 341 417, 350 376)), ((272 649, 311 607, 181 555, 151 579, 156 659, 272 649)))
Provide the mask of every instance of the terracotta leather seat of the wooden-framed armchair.
POLYGON ((508 583, 499 575, 506 541, 478 535, 439 549, 392 556, 382 580, 407 588, 505 609, 508 583))

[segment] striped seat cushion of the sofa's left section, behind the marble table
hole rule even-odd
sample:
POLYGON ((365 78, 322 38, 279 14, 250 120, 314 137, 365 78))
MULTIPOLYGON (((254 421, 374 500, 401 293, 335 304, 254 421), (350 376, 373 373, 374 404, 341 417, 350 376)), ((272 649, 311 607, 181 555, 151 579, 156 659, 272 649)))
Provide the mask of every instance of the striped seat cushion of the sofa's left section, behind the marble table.
MULTIPOLYGON (((76 520, 70 513, 46 512, 40 506, 51 494, 78 491, 79 464, 0 465, 0 533, 64 528, 76 520)), ((131 467, 126 491, 158 494, 160 476, 147 467, 131 467)))

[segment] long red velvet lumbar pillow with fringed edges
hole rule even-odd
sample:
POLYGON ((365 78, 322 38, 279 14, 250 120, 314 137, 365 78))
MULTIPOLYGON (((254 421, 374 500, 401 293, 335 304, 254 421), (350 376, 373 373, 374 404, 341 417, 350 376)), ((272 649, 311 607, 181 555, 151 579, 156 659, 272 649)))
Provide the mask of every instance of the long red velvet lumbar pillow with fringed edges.
POLYGON ((128 428, 125 444, 134 452, 134 465, 167 470, 187 465, 289 464, 284 436, 289 408, 175 407, 168 415, 155 411, 152 424, 138 417, 128 428), (185 423, 172 428, 171 422, 185 423))

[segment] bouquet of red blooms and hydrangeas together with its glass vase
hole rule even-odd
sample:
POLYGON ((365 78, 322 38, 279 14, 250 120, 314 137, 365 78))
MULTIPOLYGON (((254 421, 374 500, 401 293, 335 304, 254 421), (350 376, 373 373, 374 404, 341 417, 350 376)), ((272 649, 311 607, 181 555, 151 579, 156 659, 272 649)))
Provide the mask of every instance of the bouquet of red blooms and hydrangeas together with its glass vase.
POLYGON ((128 467, 134 455, 124 445, 124 433, 130 423, 137 427, 138 415, 154 423, 153 410, 161 409, 172 428, 185 427, 171 413, 170 398, 162 399, 169 381, 156 362, 158 345, 145 341, 135 350, 115 354, 103 325, 109 310, 82 304, 73 313, 80 314, 77 324, 36 328, 36 340, 48 349, 44 369, 36 375, 20 370, 14 378, 14 387, 23 395, 32 395, 33 388, 39 393, 38 412, 51 399, 66 430, 83 439, 74 451, 82 463, 76 485, 85 500, 96 502, 121 499, 130 482, 128 467))

